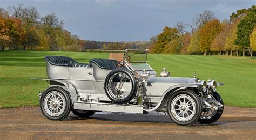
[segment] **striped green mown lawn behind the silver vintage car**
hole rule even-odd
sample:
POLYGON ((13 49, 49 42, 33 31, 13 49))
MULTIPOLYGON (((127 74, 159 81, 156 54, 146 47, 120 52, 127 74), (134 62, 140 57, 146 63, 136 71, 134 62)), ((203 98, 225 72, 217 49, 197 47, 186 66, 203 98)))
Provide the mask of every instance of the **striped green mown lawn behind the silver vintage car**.
MULTIPOLYGON (((57 51, 0 51, 0 108, 38 106, 38 92, 47 88, 46 55, 61 55, 89 63, 91 58, 107 58, 109 53, 77 53, 57 51)), ((157 71, 167 68, 172 77, 215 79, 224 82, 217 91, 224 104, 256 107, 256 60, 242 57, 197 55, 148 55, 149 64, 157 71)))

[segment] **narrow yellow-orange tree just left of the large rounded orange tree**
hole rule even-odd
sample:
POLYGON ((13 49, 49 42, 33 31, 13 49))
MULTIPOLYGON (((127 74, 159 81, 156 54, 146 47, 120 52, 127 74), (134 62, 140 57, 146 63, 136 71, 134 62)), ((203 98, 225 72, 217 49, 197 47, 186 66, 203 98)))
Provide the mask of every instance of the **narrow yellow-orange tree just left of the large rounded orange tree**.
POLYGON ((191 36, 190 45, 187 47, 187 51, 190 54, 196 54, 200 51, 200 28, 195 30, 191 36))

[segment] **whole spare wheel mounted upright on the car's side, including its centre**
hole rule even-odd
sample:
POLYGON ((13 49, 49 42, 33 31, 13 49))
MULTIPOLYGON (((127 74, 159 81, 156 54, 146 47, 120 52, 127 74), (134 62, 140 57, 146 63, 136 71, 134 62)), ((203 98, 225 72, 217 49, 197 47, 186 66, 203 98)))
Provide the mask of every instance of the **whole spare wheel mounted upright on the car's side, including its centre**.
POLYGON ((137 93, 138 83, 132 72, 124 68, 112 70, 105 79, 105 93, 116 104, 130 102, 137 93))

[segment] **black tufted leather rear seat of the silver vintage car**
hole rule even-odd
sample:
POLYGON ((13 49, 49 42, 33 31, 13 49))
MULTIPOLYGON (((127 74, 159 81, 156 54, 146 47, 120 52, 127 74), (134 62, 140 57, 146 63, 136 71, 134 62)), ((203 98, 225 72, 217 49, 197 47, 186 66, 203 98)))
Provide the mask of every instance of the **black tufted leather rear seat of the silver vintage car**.
POLYGON ((72 58, 66 56, 45 56, 44 59, 52 65, 66 67, 91 67, 90 64, 78 63, 72 58))

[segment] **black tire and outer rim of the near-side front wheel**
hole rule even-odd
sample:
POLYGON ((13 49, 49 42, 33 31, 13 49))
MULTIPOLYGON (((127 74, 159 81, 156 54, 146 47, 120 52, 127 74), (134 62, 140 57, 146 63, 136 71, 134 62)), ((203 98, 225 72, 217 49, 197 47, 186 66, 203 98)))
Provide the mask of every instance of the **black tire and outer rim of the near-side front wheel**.
MULTIPOLYGON (((191 102, 190 101, 190 102, 191 102)), ((188 104, 188 101, 186 102, 185 100, 185 103, 188 104)), ((191 104, 192 105, 192 102, 191 104)), ((178 107, 178 108, 181 108, 181 107, 178 107)), ((175 93, 173 93, 173 95, 169 98, 169 101, 167 102, 167 113, 170 117, 170 119, 176 123, 176 124, 179 124, 181 126, 192 126, 194 123, 196 123, 201 115, 201 112, 202 112, 202 106, 201 106, 201 102, 198 98, 198 95, 196 93, 194 93, 193 91, 190 91, 190 90, 180 90, 180 91, 177 91, 175 93), (193 104, 194 104, 194 109, 196 109, 195 111, 193 111, 193 113, 190 111, 190 110, 187 110, 188 109, 192 109, 191 107, 189 107, 188 105, 185 106, 183 109, 185 110, 178 110, 176 111, 175 107, 178 107, 176 105, 176 101, 178 101, 178 99, 180 98, 180 100, 182 101, 182 103, 179 101, 180 105, 184 103, 184 98, 183 97, 187 97, 187 98, 190 98, 190 99, 187 99, 187 100, 191 100, 193 101, 193 104), (175 105, 173 106, 174 109, 172 109, 172 103, 174 103, 175 105), (172 112, 173 110, 173 112, 172 112), (188 119, 188 120, 178 120, 177 117, 180 117, 179 114, 181 114, 182 111, 186 111, 187 113, 187 117, 191 117, 191 119, 188 119), (179 114, 177 114, 179 112, 179 114), (193 115, 193 116, 188 116, 188 112, 191 112, 190 115, 193 115)), ((185 114, 185 113, 182 113, 182 114, 185 114)))

